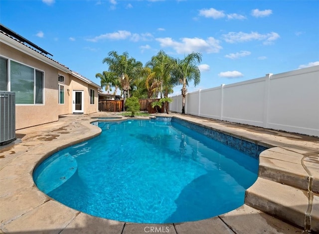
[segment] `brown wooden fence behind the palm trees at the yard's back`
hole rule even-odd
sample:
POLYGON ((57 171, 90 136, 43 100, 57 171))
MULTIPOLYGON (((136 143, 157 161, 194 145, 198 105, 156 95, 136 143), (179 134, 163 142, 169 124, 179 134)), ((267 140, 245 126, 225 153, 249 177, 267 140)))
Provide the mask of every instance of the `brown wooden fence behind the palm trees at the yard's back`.
MULTIPOLYGON (((152 102, 159 101, 160 99, 139 99, 140 111, 149 112, 150 114, 156 113, 156 110, 152 108, 152 102)), ((123 100, 101 100, 99 101, 99 112, 123 112, 123 100)), ((164 112, 164 105, 160 110, 160 113, 164 112)))

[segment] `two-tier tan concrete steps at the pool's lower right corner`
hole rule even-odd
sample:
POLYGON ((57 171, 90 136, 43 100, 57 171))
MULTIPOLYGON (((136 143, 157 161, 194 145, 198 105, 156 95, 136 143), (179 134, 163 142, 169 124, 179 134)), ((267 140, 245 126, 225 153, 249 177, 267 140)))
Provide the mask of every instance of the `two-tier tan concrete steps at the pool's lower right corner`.
POLYGON ((317 153, 292 146, 261 152, 259 177, 246 191, 245 204, 319 232, 317 159, 317 153))

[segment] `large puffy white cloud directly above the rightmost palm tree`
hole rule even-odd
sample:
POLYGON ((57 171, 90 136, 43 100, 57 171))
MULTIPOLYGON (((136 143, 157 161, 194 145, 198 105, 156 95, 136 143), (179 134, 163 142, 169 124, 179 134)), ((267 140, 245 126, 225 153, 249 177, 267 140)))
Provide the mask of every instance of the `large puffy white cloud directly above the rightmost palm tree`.
POLYGON ((205 53, 218 53, 222 47, 219 45, 219 40, 213 37, 208 37, 206 40, 194 38, 181 38, 181 42, 174 41, 170 37, 156 38, 160 42, 161 47, 171 47, 176 53, 192 53, 192 52, 205 52, 205 53))

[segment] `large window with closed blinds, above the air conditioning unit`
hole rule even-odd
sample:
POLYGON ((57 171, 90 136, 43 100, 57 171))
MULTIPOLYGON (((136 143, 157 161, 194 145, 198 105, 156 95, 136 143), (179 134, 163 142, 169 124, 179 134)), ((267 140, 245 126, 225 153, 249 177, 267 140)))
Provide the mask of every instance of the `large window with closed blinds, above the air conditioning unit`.
POLYGON ((9 91, 15 92, 16 104, 43 104, 43 78, 41 71, 12 60, 7 60, 5 64, 1 58, 1 88, 4 82, 9 84, 9 91), (6 69, 10 66, 6 81, 2 78, 2 73, 5 73, 2 72, 2 67, 5 65, 6 69))

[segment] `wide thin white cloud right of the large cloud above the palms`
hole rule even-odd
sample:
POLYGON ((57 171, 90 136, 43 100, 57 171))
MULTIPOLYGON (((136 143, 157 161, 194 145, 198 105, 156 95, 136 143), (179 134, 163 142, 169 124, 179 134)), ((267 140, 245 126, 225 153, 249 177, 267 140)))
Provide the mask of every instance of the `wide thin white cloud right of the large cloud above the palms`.
POLYGON ((247 42, 252 40, 263 40, 263 44, 268 45, 272 44, 273 41, 280 38, 279 34, 276 32, 270 32, 267 34, 260 34, 258 32, 229 32, 223 34, 223 38, 228 43, 237 43, 237 42, 247 42))

